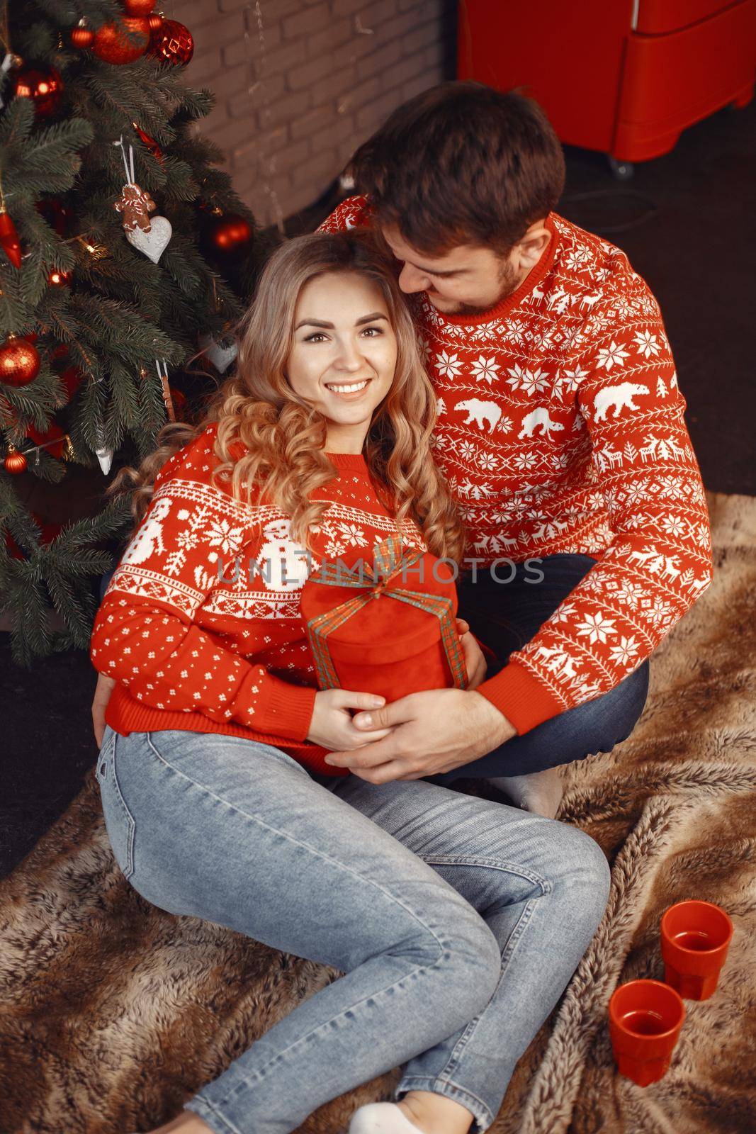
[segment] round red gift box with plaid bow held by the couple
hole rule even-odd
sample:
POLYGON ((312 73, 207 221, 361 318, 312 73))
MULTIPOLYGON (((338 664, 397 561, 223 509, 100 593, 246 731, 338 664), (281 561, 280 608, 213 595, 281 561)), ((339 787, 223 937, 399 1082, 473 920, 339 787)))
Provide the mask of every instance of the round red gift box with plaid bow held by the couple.
POLYGON ((376 693, 389 703, 467 687, 453 570, 430 551, 402 551, 392 536, 376 544, 372 564, 324 561, 303 586, 300 608, 322 689, 376 693))

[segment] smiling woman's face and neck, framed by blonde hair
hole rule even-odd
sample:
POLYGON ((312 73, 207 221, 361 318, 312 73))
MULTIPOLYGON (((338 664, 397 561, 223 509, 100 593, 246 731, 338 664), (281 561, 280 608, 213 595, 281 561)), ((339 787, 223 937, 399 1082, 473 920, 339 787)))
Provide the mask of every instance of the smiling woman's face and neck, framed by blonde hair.
POLYGON ((329 272, 305 284, 284 372, 291 389, 325 417, 328 450, 362 451, 396 364, 397 338, 377 284, 359 272, 329 272))

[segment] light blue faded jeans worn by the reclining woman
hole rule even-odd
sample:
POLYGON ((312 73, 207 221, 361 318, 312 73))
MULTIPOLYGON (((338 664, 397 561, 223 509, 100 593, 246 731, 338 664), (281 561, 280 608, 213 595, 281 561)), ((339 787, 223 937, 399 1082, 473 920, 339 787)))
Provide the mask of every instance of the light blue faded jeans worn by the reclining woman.
POLYGON ((130 885, 345 975, 186 1103, 218 1134, 288 1134, 402 1066, 494 1120, 601 920, 609 866, 576 828, 426 780, 317 777, 219 734, 105 729, 108 836, 130 885))

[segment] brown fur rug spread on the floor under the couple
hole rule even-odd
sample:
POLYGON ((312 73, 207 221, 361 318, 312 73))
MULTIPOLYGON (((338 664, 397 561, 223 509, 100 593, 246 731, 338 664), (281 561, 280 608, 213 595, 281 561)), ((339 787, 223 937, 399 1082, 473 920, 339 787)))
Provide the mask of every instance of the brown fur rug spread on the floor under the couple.
MULTIPOLYGON (((756 500, 710 505, 715 582, 655 654, 640 723, 566 770, 559 818, 597 839, 613 888, 493 1134, 756 1131, 756 500), (614 1072, 606 1005, 618 982, 662 978, 659 920, 687 897, 729 911, 730 957, 714 997, 687 1002, 666 1077, 642 1090, 614 1072)), ((148 905, 112 858, 94 768, 0 883, 0 942, 2 1134, 150 1131, 340 975, 148 905)), ((342 1134, 398 1078, 334 1099, 300 1131, 342 1134)))

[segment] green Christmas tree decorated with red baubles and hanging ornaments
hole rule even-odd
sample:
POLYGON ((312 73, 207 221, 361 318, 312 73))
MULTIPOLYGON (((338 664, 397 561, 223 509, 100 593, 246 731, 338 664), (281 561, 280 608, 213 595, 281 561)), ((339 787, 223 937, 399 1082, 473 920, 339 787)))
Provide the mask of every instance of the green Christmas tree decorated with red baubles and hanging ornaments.
POLYGON ((127 501, 102 506, 103 473, 218 387, 262 259, 195 132, 213 96, 187 85, 192 35, 154 3, 2 6, 0 615, 24 665, 88 645, 130 526, 127 501), (75 466, 96 507, 45 525, 23 488, 75 466))

